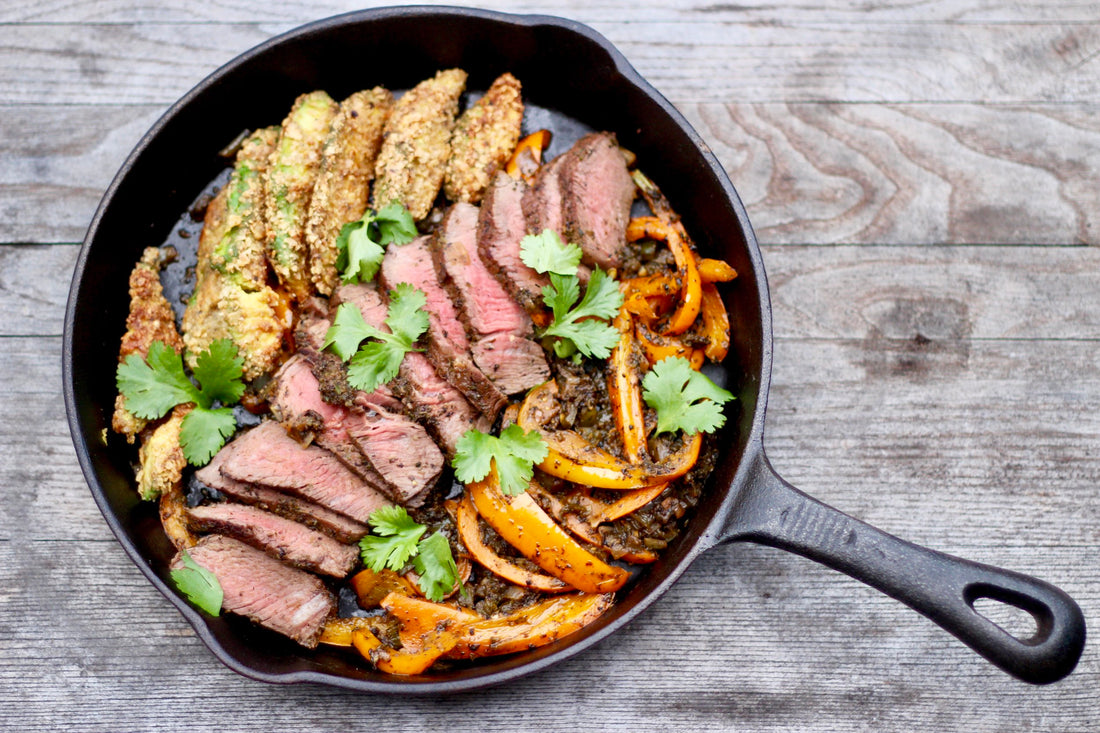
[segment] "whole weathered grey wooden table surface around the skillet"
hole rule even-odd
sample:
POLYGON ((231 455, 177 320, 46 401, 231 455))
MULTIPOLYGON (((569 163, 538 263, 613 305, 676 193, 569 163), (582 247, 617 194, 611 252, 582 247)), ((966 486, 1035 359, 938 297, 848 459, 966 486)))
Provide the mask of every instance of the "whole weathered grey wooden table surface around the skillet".
MULTIPOLYGON (((0 727, 1097 731, 1100 654, 1014 681, 810 561, 725 546, 508 687, 393 700, 229 671, 124 556, 61 395, 79 241, 139 136, 350 0, 0 7, 0 727)), ((908 539, 1100 622, 1100 3, 491 0, 590 23, 697 127, 763 243, 769 455, 908 539)), ((1011 627, 1013 616, 990 611, 1011 627)))

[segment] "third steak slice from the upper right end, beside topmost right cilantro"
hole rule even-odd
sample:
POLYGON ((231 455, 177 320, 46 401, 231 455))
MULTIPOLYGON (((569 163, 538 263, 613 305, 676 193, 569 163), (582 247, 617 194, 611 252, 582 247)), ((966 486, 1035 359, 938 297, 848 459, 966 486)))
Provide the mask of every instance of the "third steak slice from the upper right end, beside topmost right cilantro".
POLYGON ((536 315, 542 313, 542 288, 550 280, 519 258, 519 242, 528 233, 521 204, 526 188, 522 180, 496 174, 477 218, 477 251, 497 282, 527 313, 536 315))

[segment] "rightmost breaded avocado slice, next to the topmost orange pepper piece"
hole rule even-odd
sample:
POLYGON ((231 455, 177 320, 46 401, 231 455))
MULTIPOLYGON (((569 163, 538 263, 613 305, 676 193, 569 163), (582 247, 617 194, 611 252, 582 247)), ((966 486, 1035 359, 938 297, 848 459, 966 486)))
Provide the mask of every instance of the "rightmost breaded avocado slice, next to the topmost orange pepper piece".
POLYGON ((454 123, 451 157, 443 175, 443 193, 452 201, 477 204, 493 174, 503 168, 519 142, 524 99, 519 80, 504 74, 485 96, 454 123))

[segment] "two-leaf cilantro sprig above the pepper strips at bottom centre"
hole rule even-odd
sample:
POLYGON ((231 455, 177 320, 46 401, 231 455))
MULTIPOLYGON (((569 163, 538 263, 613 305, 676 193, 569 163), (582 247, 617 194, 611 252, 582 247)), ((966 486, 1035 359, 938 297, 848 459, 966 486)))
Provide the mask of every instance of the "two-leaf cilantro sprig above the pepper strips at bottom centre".
POLYGON ((442 533, 421 539, 428 527, 410 517, 403 506, 375 510, 367 523, 374 534, 359 540, 363 565, 375 572, 386 568, 398 572, 411 560, 420 576, 420 590, 429 600, 442 601, 454 590, 459 568, 442 533))

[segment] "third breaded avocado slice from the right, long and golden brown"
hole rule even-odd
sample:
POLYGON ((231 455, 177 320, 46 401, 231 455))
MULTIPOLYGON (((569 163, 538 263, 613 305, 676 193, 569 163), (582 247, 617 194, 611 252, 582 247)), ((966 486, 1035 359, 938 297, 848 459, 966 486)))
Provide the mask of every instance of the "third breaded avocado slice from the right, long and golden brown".
POLYGON ((338 283, 340 229, 366 210, 382 130, 393 106, 394 96, 382 87, 356 91, 340 103, 324 141, 306 217, 309 276, 321 295, 332 295, 338 283))

